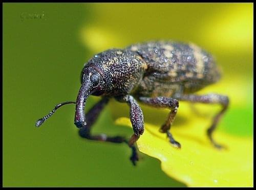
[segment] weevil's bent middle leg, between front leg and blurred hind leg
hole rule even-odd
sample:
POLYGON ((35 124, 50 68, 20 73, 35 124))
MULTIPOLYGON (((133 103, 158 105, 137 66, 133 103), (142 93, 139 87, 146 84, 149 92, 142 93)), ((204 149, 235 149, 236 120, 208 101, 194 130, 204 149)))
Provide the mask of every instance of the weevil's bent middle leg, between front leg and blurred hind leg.
POLYGON ((167 134, 170 143, 174 147, 181 148, 180 143, 174 139, 172 133, 170 133, 169 131, 174 121, 174 118, 176 116, 176 113, 179 107, 179 102, 176 99, 166 98, 166 97, 157 97, 157 98, 139 97, 139 100, 142 103, 150 106, 169 108, 171 110, 168 114, 166 122, 160 128, 160 132, 167 134))

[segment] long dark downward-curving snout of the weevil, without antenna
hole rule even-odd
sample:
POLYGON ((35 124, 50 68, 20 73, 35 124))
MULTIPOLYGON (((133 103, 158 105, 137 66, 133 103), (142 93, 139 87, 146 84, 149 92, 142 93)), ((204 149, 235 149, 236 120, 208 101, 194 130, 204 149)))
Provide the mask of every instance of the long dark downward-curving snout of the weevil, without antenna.
POLYGON ((84 114, 84 106, 86 104, 87 98, 92 93, 92 84, 90 81, 83 82, 76 99, 76 112, 74 124, 76 127, 81 128, 86 126, 86 116, 84 114))

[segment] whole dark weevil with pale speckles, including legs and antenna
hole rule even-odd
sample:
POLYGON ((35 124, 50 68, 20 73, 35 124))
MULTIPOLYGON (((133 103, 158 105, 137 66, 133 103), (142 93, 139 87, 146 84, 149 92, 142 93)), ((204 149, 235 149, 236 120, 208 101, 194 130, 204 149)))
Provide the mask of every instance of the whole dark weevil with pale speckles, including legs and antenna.
POLYGON ((135 142, 144 131, 143 113, 138 102, 170 110, 160 127, 171 145, 181 148, 170 127, 177 114, 179 101, 220 104, 221 111, 213 118, 206 134, 212 145, 223 148, 212 138, 217 123, 227 110, 229 99, 221 94, 198 95, 195 92, 220 79, 220 71, 214 58, 193 43, 175 41, 150 41, 134 44, 125 49, 110 49, 92 57, 81 72, 81 87, 76 102, 63 102, 36 122, 44 123, 59 107, 76 104, 74 124, 80 136, 112 143, 126 143, 132 148, 131 161, 135 165, 138 153, 135 142), (101 96, 87 113, 86 100, 90 95, 101 96), (110 98, 130 106, 130 119, 134 134, 130 140, 122 136, 91 134, 91 128, 110 98), (138 101, 138 102, 137 102, 138 101))

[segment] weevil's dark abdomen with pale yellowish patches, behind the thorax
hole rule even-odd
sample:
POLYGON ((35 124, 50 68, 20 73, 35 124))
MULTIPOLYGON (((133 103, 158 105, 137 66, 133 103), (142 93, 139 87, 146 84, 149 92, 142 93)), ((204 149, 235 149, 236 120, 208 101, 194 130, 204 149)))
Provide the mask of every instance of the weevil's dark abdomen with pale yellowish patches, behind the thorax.
POLYGON ((192 43, 152 41, 127 49, 139 54, 147 63, 137 91, 140 96, 172 96, 181 90, 195 92, 220 78, 212 56, 192 43))

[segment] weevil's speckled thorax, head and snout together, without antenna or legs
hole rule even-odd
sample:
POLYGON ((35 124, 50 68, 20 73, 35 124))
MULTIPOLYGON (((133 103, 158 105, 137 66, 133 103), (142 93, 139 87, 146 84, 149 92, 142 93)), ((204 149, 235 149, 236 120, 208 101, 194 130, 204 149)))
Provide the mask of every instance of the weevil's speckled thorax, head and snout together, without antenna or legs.
POLYGON ((90 59, 81 73, 75 125, 86 125, 84 104, 90 94, 117 97, 130 93, 142 79, 145 65, 137 54, 118 49, 104 51, 90 59))

